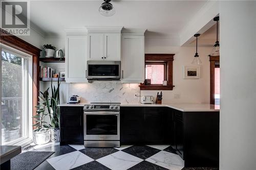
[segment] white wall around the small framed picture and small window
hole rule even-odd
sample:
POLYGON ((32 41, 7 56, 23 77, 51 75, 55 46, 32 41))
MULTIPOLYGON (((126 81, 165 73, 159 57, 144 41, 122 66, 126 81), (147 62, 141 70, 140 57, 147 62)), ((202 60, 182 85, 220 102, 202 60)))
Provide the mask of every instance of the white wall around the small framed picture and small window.
MULTIPOLYGON (((195 47, 180 47, 175 39, 146 38, 145 53, 175 53, 173 62, 173 90, 163 91, 163 103, 209 103, 210 100, 210 62, 209 53, 212 47, 199 47, 202 61, 201 79, 183 79, 183 66, 191 65, 195 47), (174 99, 180 94, 180 99, 174 99)), ((200 40, 199 40, 200 41, 200 40)), ((158 90, 160 91, 160 90, 158 90)), ((141 95, 156 96, 156 90, 141 90, 141 95)))

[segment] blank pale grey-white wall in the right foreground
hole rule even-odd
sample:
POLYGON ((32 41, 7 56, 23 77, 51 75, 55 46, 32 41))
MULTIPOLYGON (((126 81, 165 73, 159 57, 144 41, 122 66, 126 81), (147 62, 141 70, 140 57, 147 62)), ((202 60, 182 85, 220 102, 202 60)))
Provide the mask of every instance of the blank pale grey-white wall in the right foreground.
POLYGON ((256 169, 256 2, 220 2, 220 169, 256 169))

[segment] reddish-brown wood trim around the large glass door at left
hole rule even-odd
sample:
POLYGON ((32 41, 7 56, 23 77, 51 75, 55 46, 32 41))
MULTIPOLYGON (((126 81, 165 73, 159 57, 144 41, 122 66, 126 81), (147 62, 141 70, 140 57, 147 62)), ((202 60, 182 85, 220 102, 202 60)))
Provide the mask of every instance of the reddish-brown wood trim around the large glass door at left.
POLYGON ((1 38, 0 43, 8 45, 16 50, 22 51, 33 56, 33 115, 36 114, 35 106, 38 104, 38 96, 39 96, 39 56, 40 49, 31 45, 30 43, 7 33, 5 30, 1 29, 1 38))

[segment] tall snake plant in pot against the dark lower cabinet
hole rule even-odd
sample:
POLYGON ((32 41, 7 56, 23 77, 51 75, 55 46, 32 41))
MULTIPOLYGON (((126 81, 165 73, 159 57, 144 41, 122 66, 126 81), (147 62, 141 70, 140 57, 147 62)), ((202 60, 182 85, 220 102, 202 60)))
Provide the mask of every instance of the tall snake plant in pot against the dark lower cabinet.
POLYGON ((51 90, 52 90, 52 96, 51 98, 48 100, 48 112, 49 112, 49 116, 50 116, 50 121, 51 121, 51 125, 50 125, 50 131, 51 131, 51 141, 52 142, 59 142, 59 138, 60 138, 60 133, 59 133, 59 114, 60 114, 60 110, 59 110, 59 86, 60 86, 60 82, 59 82, 59 78, 58 78, 58 84, 57 87, 52 85, 52 81, 51 81, 51 90))

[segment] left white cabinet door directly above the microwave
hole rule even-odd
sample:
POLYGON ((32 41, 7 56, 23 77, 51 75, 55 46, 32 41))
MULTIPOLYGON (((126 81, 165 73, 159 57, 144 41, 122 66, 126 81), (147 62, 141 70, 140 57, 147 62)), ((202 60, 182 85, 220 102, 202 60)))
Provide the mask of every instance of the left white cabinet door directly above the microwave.
POLYGON ((88 34, 88 60, 99 61, 104 59, 104 34, 88 34))

